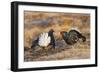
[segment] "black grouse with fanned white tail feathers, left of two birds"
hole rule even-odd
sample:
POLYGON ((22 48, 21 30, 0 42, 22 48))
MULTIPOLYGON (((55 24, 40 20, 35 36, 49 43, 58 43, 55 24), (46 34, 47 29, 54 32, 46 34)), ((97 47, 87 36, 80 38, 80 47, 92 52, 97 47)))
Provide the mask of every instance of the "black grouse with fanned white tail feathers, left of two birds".
POLYGON ((47 47, 51 45, 52 48, 55 48, 55 39, 53 32, 54 30, 51 29, 47 33, 40 34, 40 36, 36 40, 33 40, 31 48, 34 48, 37 45, 40 47, 47 47))

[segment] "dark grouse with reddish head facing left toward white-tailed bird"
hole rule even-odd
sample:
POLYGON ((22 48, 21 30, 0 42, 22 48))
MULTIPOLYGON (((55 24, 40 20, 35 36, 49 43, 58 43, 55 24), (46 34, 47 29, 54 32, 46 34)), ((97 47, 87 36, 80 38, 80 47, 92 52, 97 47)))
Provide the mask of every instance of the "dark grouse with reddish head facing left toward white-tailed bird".
POLYGON ((73 45, 73 44, 77 43, 79 39, 82 39, 83 42, 86 41, 86 37, 74 29, 70 30, 69 32, 62 31, 61 35, 62 35, 62 38, 64 39, 64 41, 69 45, 73 45))

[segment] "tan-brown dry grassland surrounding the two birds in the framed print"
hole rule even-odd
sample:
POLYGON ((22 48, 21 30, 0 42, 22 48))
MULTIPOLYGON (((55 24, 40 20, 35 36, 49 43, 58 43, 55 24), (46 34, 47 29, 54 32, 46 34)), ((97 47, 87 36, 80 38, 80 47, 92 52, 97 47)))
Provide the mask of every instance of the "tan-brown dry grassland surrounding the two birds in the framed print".
MULTIPOLYGON (((63 59, 87 59, 90 58, 90 16, 88 14, 64 14, 64 13, 42 13, 25 12, 24 29, 24 61, 45 61, 45 60, 63 60, 63 59), (61 25, 50 23, 46 27, 32 24, 34 19, 47 19, 48 17, 60 18, 63 20, 61 25), (73 25, 74 23, 74 25, 73 25), (67 45, 60 35, 61 31, 69 31, 77 27, 87 38, 87 41, 78 42, 73 46, 67 45), (40 33, 48 32, 54 29, 56 39, 56 49, 43 50, 41 47, 30 48, 32 40, 35 40, 40 33), (42 49, 42 50, 41 50, 42 49)), ((47 47, 48 48, 48 47, 47 47)))

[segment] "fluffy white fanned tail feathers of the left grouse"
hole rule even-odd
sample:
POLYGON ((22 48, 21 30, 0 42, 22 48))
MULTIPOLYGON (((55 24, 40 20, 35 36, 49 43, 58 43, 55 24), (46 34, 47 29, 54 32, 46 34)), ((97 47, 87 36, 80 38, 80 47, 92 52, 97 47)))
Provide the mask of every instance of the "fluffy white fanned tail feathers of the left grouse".
POLYGON ((48 36, 48 33, 42 33, 39 36, 39 42, 38 44, 42 47, 46 47, 48 46, 48 44, 50 43, 51 38, 48 36))

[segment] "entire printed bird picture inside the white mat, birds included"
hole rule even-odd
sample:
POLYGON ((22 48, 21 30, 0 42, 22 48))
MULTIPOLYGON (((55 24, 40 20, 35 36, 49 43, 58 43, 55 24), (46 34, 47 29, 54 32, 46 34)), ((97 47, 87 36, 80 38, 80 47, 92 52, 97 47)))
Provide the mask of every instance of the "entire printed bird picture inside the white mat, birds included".
POLYGON ((90 45, 89 14, 24 11, 24 61, 88 59, 90 45))

